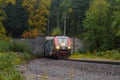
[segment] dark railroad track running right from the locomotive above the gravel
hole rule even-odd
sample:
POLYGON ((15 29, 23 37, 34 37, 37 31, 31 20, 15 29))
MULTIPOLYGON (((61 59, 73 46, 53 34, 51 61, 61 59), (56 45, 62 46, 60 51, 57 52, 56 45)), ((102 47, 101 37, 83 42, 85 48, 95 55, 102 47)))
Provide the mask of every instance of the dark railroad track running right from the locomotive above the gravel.
POLYGON ((120 61, 115 61, 115 60, 98 60, 98 59, 64 59, 64 60, 76 61, 76 62, 86 62, 86 63, 120 65, 120 61))

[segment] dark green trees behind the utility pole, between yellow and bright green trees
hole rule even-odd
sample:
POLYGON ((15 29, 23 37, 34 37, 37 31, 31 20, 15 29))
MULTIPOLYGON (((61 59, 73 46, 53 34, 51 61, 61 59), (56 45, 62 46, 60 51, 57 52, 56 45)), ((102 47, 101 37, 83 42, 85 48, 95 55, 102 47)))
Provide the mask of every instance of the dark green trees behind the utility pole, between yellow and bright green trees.
MULTIPOLYGON (((64 17, 67 17, 66 34, 69 36, 81 36, 85 11, 91 0, 52 0, 50 9, 50 30, 59 26, 64 29, 64 17)), ((51 32, 50 31, 50 32, 51 32)))

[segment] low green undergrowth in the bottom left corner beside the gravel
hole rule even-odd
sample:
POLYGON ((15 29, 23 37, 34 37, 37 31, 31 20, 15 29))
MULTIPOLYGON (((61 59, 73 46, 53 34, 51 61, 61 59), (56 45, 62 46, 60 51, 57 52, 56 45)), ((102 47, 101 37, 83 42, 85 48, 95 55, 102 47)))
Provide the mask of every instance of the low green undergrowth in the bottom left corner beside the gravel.
POLYGON ((27 53, 0 52, 0 80, 25 80, 24 76, 17 70, 16 65, 30 59, 27 53))

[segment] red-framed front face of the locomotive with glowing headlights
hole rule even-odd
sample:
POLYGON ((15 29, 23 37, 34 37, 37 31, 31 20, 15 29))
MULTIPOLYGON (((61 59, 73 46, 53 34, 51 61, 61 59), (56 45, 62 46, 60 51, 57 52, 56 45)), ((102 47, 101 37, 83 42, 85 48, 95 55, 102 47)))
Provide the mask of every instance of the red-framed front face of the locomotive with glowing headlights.
POLYGON ((60 56, 66 56, 71 54, 71 41, 67 36, 57 36, 54 38, 55 51, 60 56))

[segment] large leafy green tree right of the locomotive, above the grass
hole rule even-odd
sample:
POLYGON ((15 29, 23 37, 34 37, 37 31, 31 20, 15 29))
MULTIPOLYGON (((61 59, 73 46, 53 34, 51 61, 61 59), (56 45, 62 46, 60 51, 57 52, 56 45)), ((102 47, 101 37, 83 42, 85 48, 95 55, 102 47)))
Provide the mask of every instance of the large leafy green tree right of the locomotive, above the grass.
MULTIPOLYGON (((118 3, 117 1, 119 0, 114 3, 118 3)), ((111 50, 120 47, 119 6, 114 5, 113 7, 107 0, 92 1, 86 12, 83 33, 83 38, 87 40, 90 50, 111 50), (115 6, 118 8, 115 9, 115 6)))

